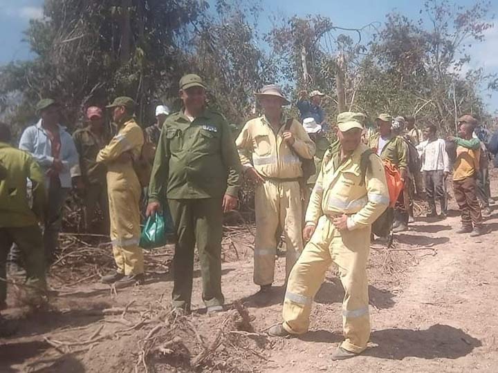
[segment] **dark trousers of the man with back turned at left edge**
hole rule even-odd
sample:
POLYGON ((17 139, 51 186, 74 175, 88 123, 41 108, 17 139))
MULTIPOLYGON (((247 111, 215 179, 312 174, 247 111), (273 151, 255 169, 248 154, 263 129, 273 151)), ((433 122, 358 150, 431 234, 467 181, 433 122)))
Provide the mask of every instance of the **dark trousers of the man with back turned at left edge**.
MULTIPOLYGON (((45 256, 42 231, 38 225, 0 227, 0 278, 7 276, 7 255, 15 243, 21 251, 26 269, 26 283, 45 289, 45 256)), ((7 298, 7 284, 0 280, 0 305, 7 298)))

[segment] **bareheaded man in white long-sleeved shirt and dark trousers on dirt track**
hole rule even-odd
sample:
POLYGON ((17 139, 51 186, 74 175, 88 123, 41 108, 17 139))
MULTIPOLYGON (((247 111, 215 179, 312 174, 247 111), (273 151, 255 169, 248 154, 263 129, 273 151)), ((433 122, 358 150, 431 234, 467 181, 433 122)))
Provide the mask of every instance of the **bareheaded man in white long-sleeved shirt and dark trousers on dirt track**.
POLYGON ((427 216, 437 216, 435 198, 441 203, 441 218, 446 217, 446 177, 450 173, 450 158, 446 153, 446 144, 436 136, 436 126, 430 124, 423 130, 425 141, 417 146, 422 159, 422 173, 425 183, 425 193, 430 212, 427 216))

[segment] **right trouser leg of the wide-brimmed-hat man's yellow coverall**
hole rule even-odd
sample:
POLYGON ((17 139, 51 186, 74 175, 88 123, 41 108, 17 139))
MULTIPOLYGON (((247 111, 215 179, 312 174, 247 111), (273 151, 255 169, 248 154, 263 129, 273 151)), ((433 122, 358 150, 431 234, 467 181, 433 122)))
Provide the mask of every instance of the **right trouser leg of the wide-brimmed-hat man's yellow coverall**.
POLYGON ((284 182, 280 189, 280 222, 286 242, 286 278, 302 251, 302 200, 299 182, 284 182))

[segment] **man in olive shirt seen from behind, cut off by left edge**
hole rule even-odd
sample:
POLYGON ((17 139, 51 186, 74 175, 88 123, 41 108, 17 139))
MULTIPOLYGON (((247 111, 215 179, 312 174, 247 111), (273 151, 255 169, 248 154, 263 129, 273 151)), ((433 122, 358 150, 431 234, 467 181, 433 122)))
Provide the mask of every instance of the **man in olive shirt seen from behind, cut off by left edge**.
MULTIPOLYGON (((28 289, 43 292, 44 241, 38 222, 46 202, 44 175, 31 155, 10 146, 10 137, 8 126, 0 123, 0 164, 6 170, 0 180, 0 278, 6 278, 8 252, 15 243, 24 258, 28 289)), ((7 284, 0 280, 0 309, 6 308, 6 298, 7 284)))

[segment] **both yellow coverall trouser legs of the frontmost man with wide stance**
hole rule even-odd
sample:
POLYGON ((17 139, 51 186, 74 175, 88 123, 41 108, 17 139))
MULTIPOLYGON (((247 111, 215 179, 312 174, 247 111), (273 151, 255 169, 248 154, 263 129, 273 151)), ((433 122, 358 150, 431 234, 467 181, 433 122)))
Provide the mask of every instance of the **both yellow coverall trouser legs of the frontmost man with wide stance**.
POLYGON ((284 300, 284 328, 292 334, 308 331, 313 298, 320 289, 326 269, 338 266, 344 287, 342 347, 362 352, 370 337, 367 262, 370 228, 340 233, 331 220, 322 216, 315 233, 297 260, 288 279, 284 300))

